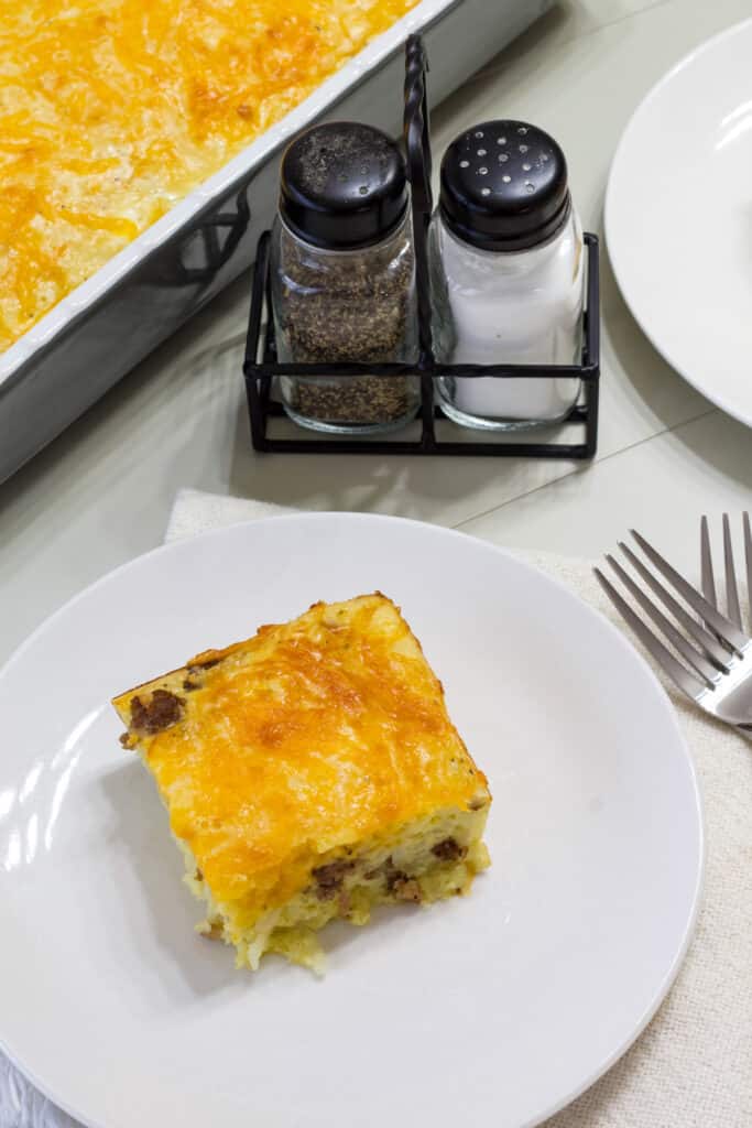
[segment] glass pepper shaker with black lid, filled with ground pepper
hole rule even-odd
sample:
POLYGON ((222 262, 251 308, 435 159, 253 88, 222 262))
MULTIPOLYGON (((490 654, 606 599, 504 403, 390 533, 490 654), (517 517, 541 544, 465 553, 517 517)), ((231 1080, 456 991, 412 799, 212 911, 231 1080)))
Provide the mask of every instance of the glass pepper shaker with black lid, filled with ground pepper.
MULTIPOLYGON (((331 122, 292 142, 272 232, 280 362, 416 359, 408 203, 402 156, 380 130, 331 122)), ((280 385, 287 415, 317 431, 395 430, 421 400, 413 376, 287 376, 280 385)))

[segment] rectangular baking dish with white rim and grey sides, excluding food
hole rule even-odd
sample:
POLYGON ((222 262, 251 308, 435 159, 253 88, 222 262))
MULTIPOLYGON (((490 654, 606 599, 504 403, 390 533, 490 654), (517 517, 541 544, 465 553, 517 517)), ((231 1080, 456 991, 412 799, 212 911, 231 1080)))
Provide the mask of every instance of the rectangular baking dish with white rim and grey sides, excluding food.
POLYGON ((253 264, 292 135, 326 117, 397 132, 402 49, 412 32, 424 36, 436 103, 550 2, 422 0, 59 302, 0 355, 0 482, 253 264))

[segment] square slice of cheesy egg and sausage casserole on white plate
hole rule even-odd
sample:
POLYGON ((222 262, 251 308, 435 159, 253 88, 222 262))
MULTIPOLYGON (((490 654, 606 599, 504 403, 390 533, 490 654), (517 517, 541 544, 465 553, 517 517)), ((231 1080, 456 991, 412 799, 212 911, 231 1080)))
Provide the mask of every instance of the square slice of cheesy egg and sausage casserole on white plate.
POLYGON ((399 608, 379 593, 205 651, 114 700, 206 902, 200 931, 321 967, 316 932, 469 890, 486 778, 399 608))

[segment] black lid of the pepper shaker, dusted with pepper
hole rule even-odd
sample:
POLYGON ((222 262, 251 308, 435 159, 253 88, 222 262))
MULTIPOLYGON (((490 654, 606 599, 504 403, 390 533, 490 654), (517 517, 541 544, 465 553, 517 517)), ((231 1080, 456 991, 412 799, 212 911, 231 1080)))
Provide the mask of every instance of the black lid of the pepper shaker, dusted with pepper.
POLYGON ((318 247, 379 243, 407 208, 405 161, 381 130, 327 122, 301 133, 282 158, 280 213, 318 247))

